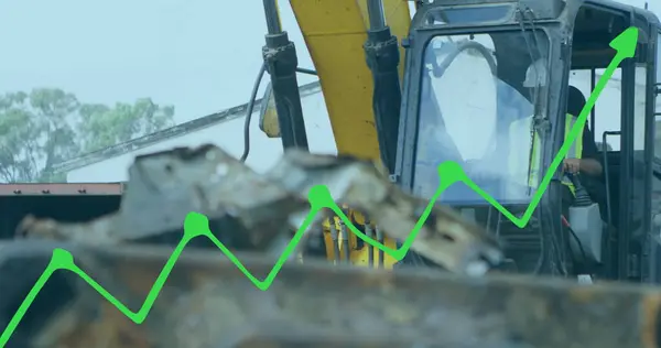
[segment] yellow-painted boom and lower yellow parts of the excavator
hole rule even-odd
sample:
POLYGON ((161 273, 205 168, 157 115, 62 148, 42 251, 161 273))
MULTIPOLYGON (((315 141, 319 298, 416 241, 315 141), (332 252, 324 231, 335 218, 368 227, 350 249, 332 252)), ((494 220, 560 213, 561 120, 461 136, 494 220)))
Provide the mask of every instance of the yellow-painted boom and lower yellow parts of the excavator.
MULTIPOLYGON (((369 29, 367 0, 290 0, 290 3, 319 77, 338 154, 380 162, 372 111, 373 81, 362 50, 369 29)), ((408 2, 382 0, 382 3, 392 34, 401 40, 411 23, 408 2)), ((403 62, 404 52, 400 50, 403 62)), ((400 78, 402 76, 403 64, 400 64, 400 78)), ((356 236, 349 235, 351 261, 367 265, 371 247, 357 249, 356 236)), ((326 254, 335 259, 327 228, 324 237, 326 254)), ((386 239, 384 243, 395 248, 393 240, 386 239)), ((340 251, 342 259, 345 252, 340 251)), ((378 250, 375 249, 373 254, 378 258, 378 250)), ((383 261, 387 269, 397 262, 389 255, 383 261)))

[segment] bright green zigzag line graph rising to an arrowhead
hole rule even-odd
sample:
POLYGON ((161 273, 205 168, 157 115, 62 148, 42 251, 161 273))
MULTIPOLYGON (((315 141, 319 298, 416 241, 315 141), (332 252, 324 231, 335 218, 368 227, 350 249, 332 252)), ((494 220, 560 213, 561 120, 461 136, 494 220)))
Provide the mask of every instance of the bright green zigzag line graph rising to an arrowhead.
POLYGON ((231 253, 231 251, 229 251, 216 237, 214 237, 212 235, 212 231, 210 231, 209 225, 208 225, 208 219, 204 215, 197 214, 197 213, 191 213, 186 216, 186 219, 184 221, 184 236, 183 236, 182 240, 173 250, 172 255, 166 261, 165 265, 163 267, 163 270, 156 278, 154 285, 150 290, 150 292, 147 296, 147 300, 144 301, 144 303, 142 304, 140 309, 138 309, 137 312, 133 312, 130 308, 128 308, 119 300, 117 300, 115 296, 112 296, 112 294, 110 294, 108 291, 106 291, 99 283, 97 283, 94 279, 91 279, 87 273, 85 273, 85 271, 83 271, 80 268, 78 268, 74 261, 74 257, 72 255, 72 253, 69 253, 68 251, 66 251, 64 249, 55 249, 55 250, 53 250, 53 257, 51 258, 51 262, 48 263, 48 265, 46 267, 46 269, 44 270, 42 275, 37 279, 36 283, 34 284, 32 290, 29 292, 29 294, 25 296, 25 300, 22 302, 21 306, 19 307, 17 313, 13 315, 13 317, 10 319, 8 326, 2 331, 2 335, 0 336, 0 348, 3 348, 7 345, 7 342, 11 338, 12 334, 17 329, 19 323, 21 322, 21 319, 23 318, 23 316, 30 308, 30 305, 34 302, 34 300, 39 295, 40 291, 44 287, 44 285, 46 284, 46 282, 51 278, 51 275, 53 275, 53 273, 58 270, 67 270, 67 271, 71 271, 71 272, 77 274, 78 276, 80 276, 80 279, 83 279, 85 282, 87 282, 94 290, 96 290, 104 298, 106 298, 112 305, 115 305, 123 315, 129 317, 136 324, 143 323, 144 319, 147 318, 147 316, 149 315, 154 302, 156 301, 159 293, 163 289, 163 285, 165 284, 165 281, 167 280, 167 276, 170 275, 170 272, 172 271, 172 269, 174 268, 180 255, 184 251, 184 248, 192 239, 197 238, 197 237, 206 237, 209 240, 212 240, 216 244, 216 247, 218 247, 218 249, 220 249, 220 251, 223 251, 223 253, 225 253, 227 255, 227 258, 232 263, 235 263, 236 267, 258 289, 260 289, 262 291, 267 291, 271 286, 273 281, 275 280, 275 276, 278 275, 278 273, 280 272, 280 270, 282 269, 282 267, 284 265, 286 260, 289 259, 289 257, 294 251, 296 244, 303 237, 304 231, 312 224, 316 214, 319 213, 319 210, 324 209, 324 208, 332 209, 337 216, 340 217, 340 219, 344 222, 346 222, 347 227, 351 230, 351 232, 356 233, 356 236, 358 238, 360 238, 362 241, 365 241, 366 243, 368 243, 375 248, 382 250, 384 253, 391 255, 392 258, 394 258, 397 260, 403 259, 403 257, 407 254, 407 252, 409 252, 409 249, 411 248, 413 240, 418 236, 418 232, 421 230, 425 220, 429 218, 432 207, 434 206, 434 203, 438 199, 441 194, 447 187, 449 187, 451 185, 458 183, 458 182, 462 182, 462 183, 466 184, 468 187, 470 187, 472 189, 474 189, 481 197, 484 197, 485 200, 487 200, 489 204, 491 204, 494 207, 496 207, 500 213, 502 213, 502 215, 505 215, 508 219, 510 219, 516 226, 518 226, 519 228, 522 228, 530 220, 534 209, 539 205, 545 189, 548 188, 549 184, 551 183, 551 180, 553 178, 553 173, 560 167, 563 159, 565 157, 566 153, 568 152, 568 150, 571 148, 571 144, 577 139, 578 134, 583 131, 583 127, 587 120, 587 116, 588 116, 590 109, 595 106, 597 98, 602 94, 602 90, 606 87, 606 84, 608 83, 608 80, 611 78, 615 69, 625 58, 629 58, 629 57, 633 56, 635 51, 636 51, 637 41, 638 41, 638 30, 635 28, 629 28, 626 31, 624 31, 620 35, 618 35, 610 43, 610 46, 617 51, 617 54, 615 55, 615 57, 613 58, 613 61, 606 68, 606 72, 604 73, 604 75, 599 78, 599 80, 595 87, 595 90, 593 91, 593 94, 590 95, 588 100, 586 101, 585 108, 582 110, 581 115, 578 116, 577 121, 575 122, 574 127, 572 128, 570 134, 566 137, 566 141, 561 146, 557 155, 551 163, 549 171, 542 178, 542 182, 540 183, 540 187, 537 191, 535 195, 532 197, 530 206, 528 207, 528 209, 521 217, 516 217, 514 215, 512 215, 502 205, 500 205, 498 202, 496 202, 496 199, 494 199, 491 196, 489 196, 484 189, 478 187, 473 181, 470 181, 470 178, 468 178, 468 176, 462 170, 459 164, 454 163, 454 162, 446 162, 438 166, 438 177, 440 177, 438 189, 432 197, 432 200, 426 206, 424 213, 422 214, 420 220, 416 222, 414 229, 411 231, 411 233, 409 235, 409 237, 407 238, 407 240, 404 241, 402 247, 400 247, 399 249, 390 249, 390 248, 383 246, 382 243, 379 243, 378 241, 369 238, 368 236, 362 233, 360 230, 358 230, 358 228, 356 228, 356 226, 354 226, 351 224, 351 221, 348 219, 348 217, 335 204, 328 189, 325 186, 316 186, 316 187, 313 187, 308 194, 308 200, 311 204, 310 214, 306 216, 302 226, 299 228, 299 230, 296 231, 296 233, 294 235, 294 237, 292 238, 292 240, 285 248, 285 251, 278 259, 278 261, 275 262, 275 265, 273 265, 273 269, 269 272, 267 278, 264 280, 259 280, 246 269, 246 267, 241 263, 241 261, 238 260, 236 258, 236 255, 231 253))

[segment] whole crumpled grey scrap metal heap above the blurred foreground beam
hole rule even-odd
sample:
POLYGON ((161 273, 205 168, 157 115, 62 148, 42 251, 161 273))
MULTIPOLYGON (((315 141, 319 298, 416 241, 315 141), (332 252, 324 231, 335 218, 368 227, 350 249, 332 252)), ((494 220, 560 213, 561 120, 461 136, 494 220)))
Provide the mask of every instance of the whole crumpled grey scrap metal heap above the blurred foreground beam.
MULTIPOLYGON (((308 213, 307 193, 315 185, 326 185, 335 202, 366 213, 399 240, 409 237, 427 205, 370 163, 299 151, 286 152, 279 165, 260 175, 213 145, 175 149, 138 157, 129 175, 118 214, 88 224, 26 219, 22 232, 89 244, 165 237, 176 242, 185 216, 198 211, 234 249, 278 253, 308 213)), ((459 273, 484 273, 501 259, 492 237, 444 207, 434 208, 412 249, 459 273)))

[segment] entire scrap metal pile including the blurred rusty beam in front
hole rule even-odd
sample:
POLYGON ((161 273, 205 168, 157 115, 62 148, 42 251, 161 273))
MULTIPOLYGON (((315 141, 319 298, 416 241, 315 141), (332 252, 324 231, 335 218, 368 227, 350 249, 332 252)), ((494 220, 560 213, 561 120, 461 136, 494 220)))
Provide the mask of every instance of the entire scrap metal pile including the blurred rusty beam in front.
MULTIPOLYGON (((78 268, 138 312, 191 211, 204 214, 218 240, 263 279, 318 203, 307 200, 318 185, 398 240, 429 204, 351 159, 292 151, 259 175, 215 146, 142 156, 117 214, 86 224, 28 218, 22 239, 0 246, 0 328, 54 248, 68 250, 78 268)), ((297 244, 294 254, 304 262, 292 257, 268 291, 208 240, 194 239, 141 325, 76 274, 58 271, 7 347, 660 347, 658 291, 481 276, 501 261, 498 243, 449 208, 435 206, 412 244, 448 272, 305 258, 327 216, 316 215, 297 244)))

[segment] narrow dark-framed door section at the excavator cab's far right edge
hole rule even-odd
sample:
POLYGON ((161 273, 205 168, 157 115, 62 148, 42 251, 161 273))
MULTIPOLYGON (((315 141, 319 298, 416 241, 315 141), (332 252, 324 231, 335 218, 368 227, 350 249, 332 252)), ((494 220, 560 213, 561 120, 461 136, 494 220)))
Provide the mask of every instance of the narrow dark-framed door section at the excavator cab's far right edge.
POLYGON ((658 31, 649 24, 643 28, 639 31, 636 56, 621 63, 624 102, 617 278, 631 282, 641 282, 648 276, 642 264, 649 257, 651 231, 658 31))

